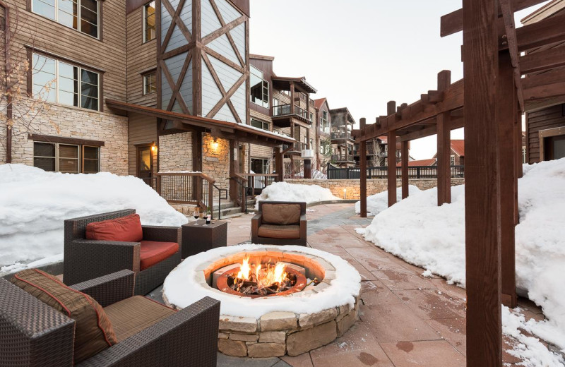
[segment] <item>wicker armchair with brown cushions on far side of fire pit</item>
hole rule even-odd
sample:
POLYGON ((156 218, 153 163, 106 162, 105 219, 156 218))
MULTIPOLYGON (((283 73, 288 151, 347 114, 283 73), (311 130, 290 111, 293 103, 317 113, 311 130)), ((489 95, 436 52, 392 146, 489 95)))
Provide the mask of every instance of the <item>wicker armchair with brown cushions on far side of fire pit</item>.
POLYGON ((306 203, 259 201, 251 219, 251 242, 306 246, 306 203))

